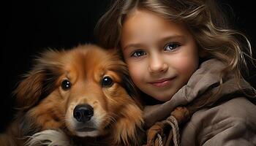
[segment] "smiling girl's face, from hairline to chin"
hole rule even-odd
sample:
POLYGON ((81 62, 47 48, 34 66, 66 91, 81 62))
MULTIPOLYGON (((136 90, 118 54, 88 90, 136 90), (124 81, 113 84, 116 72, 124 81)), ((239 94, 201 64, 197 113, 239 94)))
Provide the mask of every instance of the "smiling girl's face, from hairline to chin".
POLYGON ((197 45, 187 28, 147 10, 127 16, 121 48, 135 85, 159 101, 170 100, 198 67, 197 45))

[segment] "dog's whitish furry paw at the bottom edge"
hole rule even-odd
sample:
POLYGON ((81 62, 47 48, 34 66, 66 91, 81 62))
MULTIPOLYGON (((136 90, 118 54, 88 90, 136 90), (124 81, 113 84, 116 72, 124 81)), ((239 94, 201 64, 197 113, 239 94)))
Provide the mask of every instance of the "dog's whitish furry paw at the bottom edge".
POLYGON ((69 137, 63 131, 45 130, 28 137, 26 146, 72 146, 69 137))

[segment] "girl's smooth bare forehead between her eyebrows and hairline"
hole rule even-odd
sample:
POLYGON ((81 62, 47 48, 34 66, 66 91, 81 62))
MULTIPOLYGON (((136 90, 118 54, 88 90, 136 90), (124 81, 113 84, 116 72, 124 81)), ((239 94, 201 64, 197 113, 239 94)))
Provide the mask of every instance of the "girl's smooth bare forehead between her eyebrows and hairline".
POLYGON ((129 15, 124 21, 121 31, 121 39, 126 40, 184 35, 188 36, 190 34, 187 27, 182 23, 166 20, 147 10, 136 10, 132 15, 129 15))

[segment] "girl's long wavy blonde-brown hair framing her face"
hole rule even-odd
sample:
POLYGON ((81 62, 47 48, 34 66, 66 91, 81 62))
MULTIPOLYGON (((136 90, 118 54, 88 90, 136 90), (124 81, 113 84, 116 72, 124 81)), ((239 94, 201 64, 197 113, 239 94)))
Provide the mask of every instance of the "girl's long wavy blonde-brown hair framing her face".
MULTIPOLYGON (((227 64, 222 75, 233 72, 236 80, 248 73, 246 60, 253 64, 252 48, 244 34, 228 25, 224 12, 214 0, 115 0, 94 30, 99 45, 119 48, 124 19, 134 9, 156 12, 170 21, 184 23, 206 58, 227 64), (242 72, 243 71, 243 72, 242 72)), ((219 77, 222 85, 222 77, 219 77)))

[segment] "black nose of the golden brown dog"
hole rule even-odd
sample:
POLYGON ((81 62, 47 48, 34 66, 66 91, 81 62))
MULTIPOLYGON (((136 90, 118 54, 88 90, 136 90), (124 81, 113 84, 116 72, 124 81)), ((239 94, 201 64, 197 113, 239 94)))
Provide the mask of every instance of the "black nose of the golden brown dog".
POLYGON ((94 108, 89 104, 80 104, 75 107, 73 116, 78 122, 86 122, 91 120, 91 117, 94 115, 94 108))

